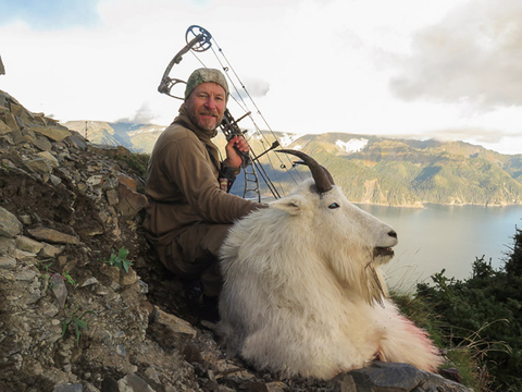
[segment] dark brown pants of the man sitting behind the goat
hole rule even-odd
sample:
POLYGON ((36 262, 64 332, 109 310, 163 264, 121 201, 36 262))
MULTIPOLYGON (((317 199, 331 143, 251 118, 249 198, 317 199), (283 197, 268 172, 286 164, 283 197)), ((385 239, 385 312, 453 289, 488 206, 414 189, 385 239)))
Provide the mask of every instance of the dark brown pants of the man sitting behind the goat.
POLYGON ((232 224, 196 223, 170 245, 158 247, 163 265, 179 278, 200 278, 203 294, 217 296, 223 286, 219 252, 232 224))

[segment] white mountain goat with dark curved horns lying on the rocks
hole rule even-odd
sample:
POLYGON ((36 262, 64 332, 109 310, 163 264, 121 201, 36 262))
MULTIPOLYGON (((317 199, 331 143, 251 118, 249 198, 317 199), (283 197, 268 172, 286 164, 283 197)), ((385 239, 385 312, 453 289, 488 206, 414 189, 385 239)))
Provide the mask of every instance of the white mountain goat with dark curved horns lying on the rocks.
POLYGON ((236 222, 221 249, 223 344, 257 369, 330 379, 372 359, 433 371, 425 333, 387 298, 380 266, 397 234, 353 206, 300 151, 313 180, 236 222))

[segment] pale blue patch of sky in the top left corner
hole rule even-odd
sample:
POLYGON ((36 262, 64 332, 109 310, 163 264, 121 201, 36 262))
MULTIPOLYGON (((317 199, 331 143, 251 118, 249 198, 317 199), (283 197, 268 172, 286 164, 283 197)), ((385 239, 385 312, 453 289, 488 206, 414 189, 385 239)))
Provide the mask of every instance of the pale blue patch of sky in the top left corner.
POLYGON ((91 26, 100 22, 99 0, 0 0, 0 25, 25 22, 37 30, 91 26))

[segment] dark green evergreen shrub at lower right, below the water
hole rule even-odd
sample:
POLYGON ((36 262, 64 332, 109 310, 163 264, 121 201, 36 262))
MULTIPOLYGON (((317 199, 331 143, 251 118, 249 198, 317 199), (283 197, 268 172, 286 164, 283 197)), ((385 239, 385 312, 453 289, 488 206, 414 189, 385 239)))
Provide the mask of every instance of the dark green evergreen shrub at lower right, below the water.
POLYGON ((434 285, 420 283, 415 297, 440 316, 445 344, 468 346, 487 367, 492 388, 522 390, 522 231, 498 271, 484 257, 473 262, 473 275, 460 281, 432 277, 434 285))

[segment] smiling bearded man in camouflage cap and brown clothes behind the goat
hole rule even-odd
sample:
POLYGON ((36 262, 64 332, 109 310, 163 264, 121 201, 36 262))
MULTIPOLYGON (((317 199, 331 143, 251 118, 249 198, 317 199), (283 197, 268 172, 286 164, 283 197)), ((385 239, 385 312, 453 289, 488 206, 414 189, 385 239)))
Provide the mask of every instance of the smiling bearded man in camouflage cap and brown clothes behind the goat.
POLYGON ((149 161, 144 228, 161 262, 181 278, 200 278, 202 293, 217 297, 221 273, 219 249, 234 221, 263 204, 228 194, 220 186, 221 173, 239 173, 248 151, 243 136, 226 145, 221 162, 211 142, 223 120, 228 85, 217 70, 192 72, 179 115, 163 131, 149 161))

